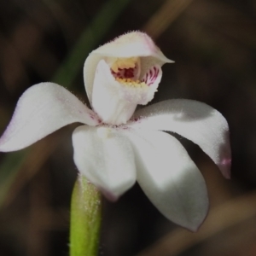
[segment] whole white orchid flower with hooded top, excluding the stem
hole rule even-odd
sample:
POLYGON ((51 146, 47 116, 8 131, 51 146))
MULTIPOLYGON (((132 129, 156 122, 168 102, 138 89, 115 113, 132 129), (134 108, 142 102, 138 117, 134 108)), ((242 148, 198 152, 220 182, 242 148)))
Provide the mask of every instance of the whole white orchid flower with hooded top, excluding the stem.
POLYGON ((154 206, 176 224, 197 230, 207 215, 201 172, 172 131, 198 144, 230 177, 229 127, 201 102, 150 102, 168 60, 143 32, 127 33, 94 50, 84 64, 93 110, 58 84, 26 90, 0 138, 0 151, 26 148, 64 125, 73 131, 74 162, 108 198, 117 199, 137 181, 154 206))

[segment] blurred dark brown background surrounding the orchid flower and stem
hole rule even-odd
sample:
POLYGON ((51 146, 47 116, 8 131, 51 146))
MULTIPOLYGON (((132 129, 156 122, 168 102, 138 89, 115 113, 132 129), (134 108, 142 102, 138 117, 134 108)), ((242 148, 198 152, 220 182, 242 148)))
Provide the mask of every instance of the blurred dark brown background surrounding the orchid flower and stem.
MULTIPOLYGON (((100 255, 256 255, 256 1, 0 1, 0 133, 32 84, 55 81, 86 102, 86 55, 132 30, 148 32, 175 61, 163 67, 154 102, 188 98, 224 114, 232 178, 224 180, 198 147, 180 138, 207 181, 206 222, 195 234, 177 227, 136 185, 117 203, 104 201, 100 255)), ((76 126, 0 154, 1 256, 68 255, 76 126)))

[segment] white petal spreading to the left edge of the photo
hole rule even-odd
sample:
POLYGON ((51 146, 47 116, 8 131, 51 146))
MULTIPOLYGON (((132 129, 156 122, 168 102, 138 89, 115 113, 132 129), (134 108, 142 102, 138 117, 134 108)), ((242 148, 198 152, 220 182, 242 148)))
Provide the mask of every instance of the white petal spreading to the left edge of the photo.
POLYGON ((0 151, 26 148, 74 122, 99 124, 96 113, 65 88, 53 83, 36 84, 20 96, 15 113, 0 138, 0 151))

